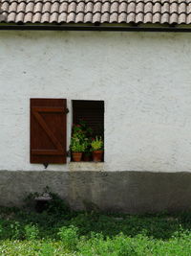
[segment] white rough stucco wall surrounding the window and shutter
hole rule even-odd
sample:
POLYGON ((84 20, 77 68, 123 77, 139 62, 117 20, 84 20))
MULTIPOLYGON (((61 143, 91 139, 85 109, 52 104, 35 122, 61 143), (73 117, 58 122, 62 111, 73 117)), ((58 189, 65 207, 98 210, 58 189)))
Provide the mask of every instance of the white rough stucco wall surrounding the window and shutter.
POLYGON ((30 164, 30 98, 57 97, 70 110, 71 100, 105 101, 97 170, 190 172, 190 42, 189 34, 0 32, 0 170, 44 170, 30 164))

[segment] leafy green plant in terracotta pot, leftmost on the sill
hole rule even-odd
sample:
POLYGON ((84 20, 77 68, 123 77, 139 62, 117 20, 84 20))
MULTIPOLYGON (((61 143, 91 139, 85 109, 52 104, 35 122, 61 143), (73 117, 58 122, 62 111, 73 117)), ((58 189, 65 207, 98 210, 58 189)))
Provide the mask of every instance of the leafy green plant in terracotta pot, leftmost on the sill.
POLYGON ((84 143, 81 143, 78 138, 72 137, 71 151, 72 151, 74 162, 80 162, 82 158, 82 152, 85 151, 84 143))

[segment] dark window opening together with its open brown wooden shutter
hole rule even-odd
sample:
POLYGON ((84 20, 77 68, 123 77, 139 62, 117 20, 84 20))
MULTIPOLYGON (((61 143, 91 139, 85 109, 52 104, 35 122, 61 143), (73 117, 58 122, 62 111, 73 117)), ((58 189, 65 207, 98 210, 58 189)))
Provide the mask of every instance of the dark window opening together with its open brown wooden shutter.
MULTIPOLYGON (((31 163, 47 167, 50 163, 67 162, 67 113, 65 99, 31 99, 31 163)), ((81 120, 92 130, 89 138, 101 136, 104 140, 103 101, 73 101, 73 123, 78 124, 81 120)), ((88 147, 87 151, 91 152, 91 141, 88 147)), ((83 155, 87 151, 83 151, 83 155)))

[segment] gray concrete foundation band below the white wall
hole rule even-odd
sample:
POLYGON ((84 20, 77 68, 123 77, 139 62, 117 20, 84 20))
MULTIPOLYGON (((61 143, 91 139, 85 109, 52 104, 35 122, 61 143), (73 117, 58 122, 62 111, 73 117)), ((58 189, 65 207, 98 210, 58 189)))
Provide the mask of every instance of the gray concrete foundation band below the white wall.
POLYGON ((190 173, 0 172, 0 205, 21 205, 49 186, 74 210, 154 213, 191 209, 190 173))

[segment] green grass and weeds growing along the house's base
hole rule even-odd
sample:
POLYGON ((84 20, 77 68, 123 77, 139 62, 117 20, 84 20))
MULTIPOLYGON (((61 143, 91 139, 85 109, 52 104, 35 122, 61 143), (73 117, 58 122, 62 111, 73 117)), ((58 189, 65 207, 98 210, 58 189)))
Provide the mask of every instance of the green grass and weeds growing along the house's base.
MULTIPOLYGON (((37 214, 0 208, 0 255, 191 255, 191 214, 37 214)), ((59 211, 57 211, 59 209, 59 211)))

